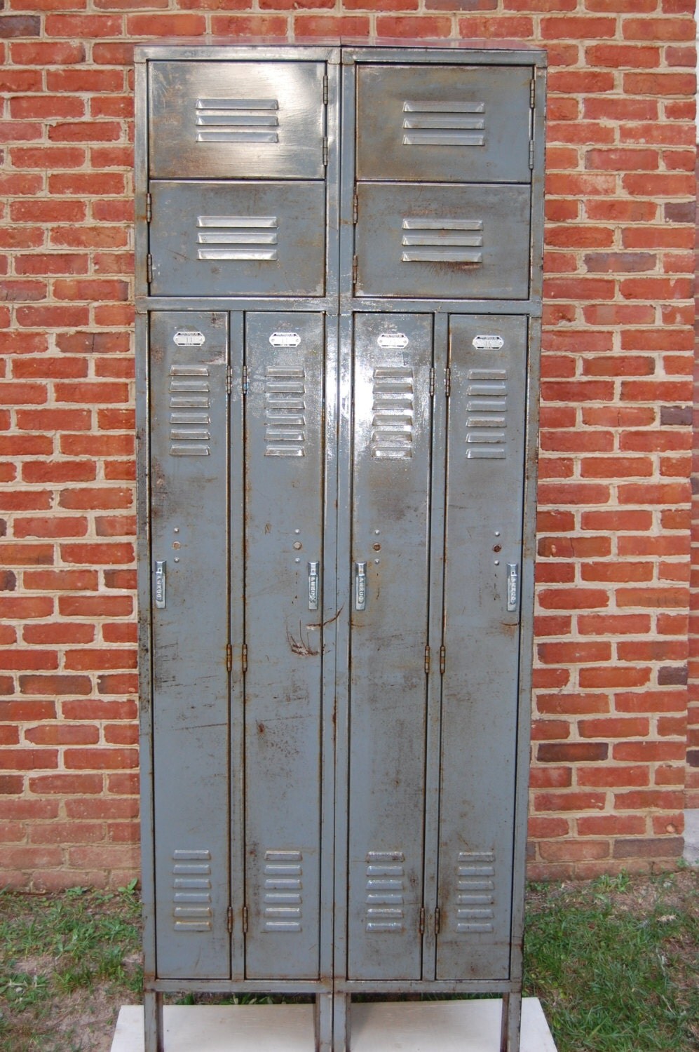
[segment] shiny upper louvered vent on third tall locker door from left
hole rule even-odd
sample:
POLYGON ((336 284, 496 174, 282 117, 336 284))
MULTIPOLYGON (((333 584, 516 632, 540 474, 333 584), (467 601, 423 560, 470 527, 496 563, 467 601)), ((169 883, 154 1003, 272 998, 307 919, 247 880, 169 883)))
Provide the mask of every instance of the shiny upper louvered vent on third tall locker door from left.
POLYGON ((371 456, 375 460, 410 460, 414 438, 413 370, 377 366, 371 418, 371 456))

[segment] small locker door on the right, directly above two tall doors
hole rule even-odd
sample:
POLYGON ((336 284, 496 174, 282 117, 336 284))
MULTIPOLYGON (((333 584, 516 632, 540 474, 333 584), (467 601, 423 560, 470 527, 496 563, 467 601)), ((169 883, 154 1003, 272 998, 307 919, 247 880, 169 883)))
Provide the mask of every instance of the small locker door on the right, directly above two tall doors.
POLYGON ((357 296, 528 296, 529 187, 359 183, 357 201, 357 296))

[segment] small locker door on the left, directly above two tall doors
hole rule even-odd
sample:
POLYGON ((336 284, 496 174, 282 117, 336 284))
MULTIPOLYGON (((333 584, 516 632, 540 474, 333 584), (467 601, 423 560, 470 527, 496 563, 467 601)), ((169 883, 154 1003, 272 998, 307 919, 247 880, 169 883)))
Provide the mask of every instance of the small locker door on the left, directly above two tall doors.
POLYGON ((321 296, 323 183, 153 182, 153 296, 321 296))

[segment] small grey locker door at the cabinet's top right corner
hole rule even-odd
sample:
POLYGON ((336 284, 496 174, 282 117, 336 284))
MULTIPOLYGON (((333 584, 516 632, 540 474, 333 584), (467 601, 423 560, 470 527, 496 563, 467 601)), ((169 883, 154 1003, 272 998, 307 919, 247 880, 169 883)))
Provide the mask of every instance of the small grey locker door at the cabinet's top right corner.
POLYGON ((531 66, 363 65, 357 179, 530 181, 531 66))

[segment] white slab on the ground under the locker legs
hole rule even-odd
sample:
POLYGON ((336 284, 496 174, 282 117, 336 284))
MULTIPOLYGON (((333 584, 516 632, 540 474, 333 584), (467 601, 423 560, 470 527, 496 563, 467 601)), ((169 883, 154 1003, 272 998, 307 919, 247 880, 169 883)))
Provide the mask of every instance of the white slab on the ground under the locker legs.
MULTIPOLYGON (((499 1052, 500 1002, 352 1006, 352 1052, 499 1052)), ((522 1004, 520 1052, 556 1052, 538 998, 522 1004)), ((310 1005, 165 1008, 165 1052, 312 1052, 310 1005)), ((111 1052, 143 1052, 143 1008, 125 1005, 111 1052)))

